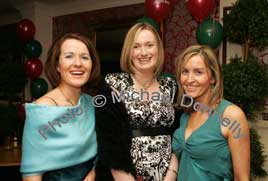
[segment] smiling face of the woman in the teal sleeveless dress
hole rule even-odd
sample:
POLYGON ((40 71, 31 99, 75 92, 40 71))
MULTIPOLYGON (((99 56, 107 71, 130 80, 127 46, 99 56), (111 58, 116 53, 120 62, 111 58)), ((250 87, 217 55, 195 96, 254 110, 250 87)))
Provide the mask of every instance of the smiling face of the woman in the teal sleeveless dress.
POLYGON ((200 55, 194 55, 182 64, 180 83, 184 93, 196 101, 207 103, 214 82, 210 69, 200 55))

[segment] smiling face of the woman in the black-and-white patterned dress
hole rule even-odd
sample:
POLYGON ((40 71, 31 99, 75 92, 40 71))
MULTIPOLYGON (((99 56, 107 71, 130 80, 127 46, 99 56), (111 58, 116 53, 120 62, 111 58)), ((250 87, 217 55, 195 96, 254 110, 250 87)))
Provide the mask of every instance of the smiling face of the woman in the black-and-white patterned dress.
POLYGON ((158 46, 154 34, 149 30, 141 30, 134 41, 131 60, 135 72, 154 73, 158 59, 158 46))

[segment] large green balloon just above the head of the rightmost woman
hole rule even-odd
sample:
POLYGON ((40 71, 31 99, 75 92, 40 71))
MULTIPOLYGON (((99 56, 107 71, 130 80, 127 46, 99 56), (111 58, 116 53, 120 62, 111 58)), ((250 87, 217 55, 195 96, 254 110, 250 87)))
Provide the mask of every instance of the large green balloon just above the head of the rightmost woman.
POLYGON ((211 18, 204 20, 196 29, 197 42, 201 45, 208 45, 217 48, 223 38, 222 25, 211 18))

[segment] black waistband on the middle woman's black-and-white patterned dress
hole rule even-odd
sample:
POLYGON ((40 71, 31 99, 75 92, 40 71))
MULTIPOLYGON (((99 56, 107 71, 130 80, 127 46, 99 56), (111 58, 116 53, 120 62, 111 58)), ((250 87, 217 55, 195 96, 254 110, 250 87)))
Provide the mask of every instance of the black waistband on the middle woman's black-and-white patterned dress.
POLYGON ((170 135, 169 128, 140 128, 132 129, 132 138, 140 136, 170 135))

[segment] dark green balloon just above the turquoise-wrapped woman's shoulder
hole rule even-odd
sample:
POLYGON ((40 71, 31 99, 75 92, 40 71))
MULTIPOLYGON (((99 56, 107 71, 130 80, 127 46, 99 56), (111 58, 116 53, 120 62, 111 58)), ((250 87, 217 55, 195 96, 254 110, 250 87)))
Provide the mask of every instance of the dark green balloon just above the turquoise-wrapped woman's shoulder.
POLYGON ((39 98, 47 92, 47 82, 45 81, 45 79, 42 78, 35 79, 31 83, 30 90, 34 98, 39 98))

